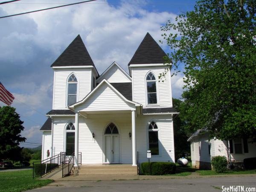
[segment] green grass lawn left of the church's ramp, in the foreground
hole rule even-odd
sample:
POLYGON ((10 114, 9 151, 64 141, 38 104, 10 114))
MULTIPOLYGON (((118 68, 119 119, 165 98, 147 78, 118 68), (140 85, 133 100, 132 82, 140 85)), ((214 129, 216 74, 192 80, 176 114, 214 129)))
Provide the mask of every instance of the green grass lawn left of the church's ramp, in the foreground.
POLYGON ((32 170, 0 172, 0 192, 21 192, 52 183, 53 180, 37 180, 32 170))

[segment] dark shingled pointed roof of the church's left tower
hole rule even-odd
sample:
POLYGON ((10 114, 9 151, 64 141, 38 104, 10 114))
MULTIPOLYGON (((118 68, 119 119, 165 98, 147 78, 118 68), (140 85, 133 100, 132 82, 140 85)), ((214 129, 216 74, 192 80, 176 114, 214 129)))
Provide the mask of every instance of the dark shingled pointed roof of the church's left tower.
POLYGON ((61 53, 61 55, 53 62, 51 67, 63 67, 63 66, 86 66, 92 65, 91 59, 84 42, 80 35, 72 41, 72 43, 61 53))

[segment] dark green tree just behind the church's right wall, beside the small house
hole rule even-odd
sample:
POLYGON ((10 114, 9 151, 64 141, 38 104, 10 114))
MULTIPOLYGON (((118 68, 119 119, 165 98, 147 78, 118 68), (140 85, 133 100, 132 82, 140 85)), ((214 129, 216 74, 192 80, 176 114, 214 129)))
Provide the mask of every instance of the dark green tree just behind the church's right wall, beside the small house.
MULTIPOLYGON (((175 109, 180 111, 180 99, 172 98, 172 105, 175 109)), ((174 129, 174 147, 175 147, 175 162, 180 157, 185 157, 185 154, 190 153, 190 144, 187 142, 187 131, 184 129, 185 122, 180 119, 180 116, 174 116, 173 129, 174 129)))

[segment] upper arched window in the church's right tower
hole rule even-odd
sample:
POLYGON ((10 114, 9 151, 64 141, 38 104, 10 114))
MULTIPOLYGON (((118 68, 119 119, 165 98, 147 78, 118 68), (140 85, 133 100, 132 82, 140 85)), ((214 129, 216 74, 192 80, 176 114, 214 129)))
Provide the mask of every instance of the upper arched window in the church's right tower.
POLYGON ((148 104, 157 104, 157 81, 153 73, 146 77, 148 104))

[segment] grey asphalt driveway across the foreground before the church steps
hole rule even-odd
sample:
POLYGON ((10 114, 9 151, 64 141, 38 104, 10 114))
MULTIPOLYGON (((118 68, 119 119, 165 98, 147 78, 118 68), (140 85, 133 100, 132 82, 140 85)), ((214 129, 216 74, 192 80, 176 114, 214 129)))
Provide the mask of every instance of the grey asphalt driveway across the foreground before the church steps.
POLYGON ((221 191, 222 186, 244 186, 244 190, 246 187, 256 188, 256 175, 154 180, 57 181, 28 192, 216 192, 221 191))

